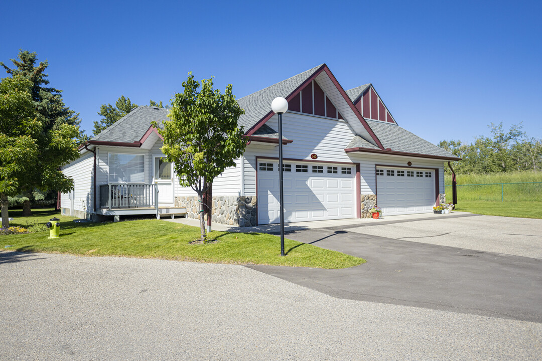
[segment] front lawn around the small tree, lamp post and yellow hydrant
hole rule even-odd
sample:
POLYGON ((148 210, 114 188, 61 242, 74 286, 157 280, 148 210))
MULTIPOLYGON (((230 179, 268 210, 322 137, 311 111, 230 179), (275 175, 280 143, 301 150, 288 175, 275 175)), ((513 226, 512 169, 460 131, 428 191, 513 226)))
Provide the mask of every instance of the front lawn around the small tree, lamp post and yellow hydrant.
POLYGON ((346 268, 365 262, 348 254, 324 250, 313 245, 285 239, 286 257, 280 256, 280 239, 264 233, 211 232, 213 244, 189 244, 199 239, 199 228, 156 219, 118 223, 75 224, 73 218, 51 209, 33 210, 34 216, 21 217, 10 226, 27 222, 47 222, 60 218, 60 238, 48 239, 49 232, 0 235, 0 251, 52 252, 80 255, 118 255, 228 264, 261 264, 318 268, 346 268), (5 248, 5 246, 11 247, 5 248))

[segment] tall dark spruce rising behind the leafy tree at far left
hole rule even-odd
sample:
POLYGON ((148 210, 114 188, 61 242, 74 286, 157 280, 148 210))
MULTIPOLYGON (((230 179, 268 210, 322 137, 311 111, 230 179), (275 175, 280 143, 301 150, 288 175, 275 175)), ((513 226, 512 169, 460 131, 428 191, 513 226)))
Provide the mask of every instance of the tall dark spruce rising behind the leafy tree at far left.
POLYGON ((49 87, 48 74, 45 74, 49 63, 39 62, 37 65, 37 53, 28 50, 20 50, 16 59, 10 59, 15 68, 9 68, 3 62, 0 65, 11 76, 22 76, 32 82, 30 94, 34 107, 42 116, 41 122, 44 129, 59 129, 62 124, 68 124, 78 128, 75 138, 79 143, 88 139, 84 130, 79 131, 81 119, 79 113, 70 110, 62 100, 62 90, 49 87))

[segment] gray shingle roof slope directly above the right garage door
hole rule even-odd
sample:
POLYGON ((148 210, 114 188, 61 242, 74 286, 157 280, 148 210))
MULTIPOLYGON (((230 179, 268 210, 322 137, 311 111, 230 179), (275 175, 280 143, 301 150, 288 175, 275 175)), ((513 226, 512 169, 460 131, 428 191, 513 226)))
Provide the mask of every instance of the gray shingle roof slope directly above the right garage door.
MULTIPOLYGON (((391 148, 391 150, 395 152, 416 153, 447 158, 456 157, 396 124, 379 120, 367 120, 367 123, 386 149, 391 148)), ((354 140, 352 140, 352 142, 353 141, 354 140)))

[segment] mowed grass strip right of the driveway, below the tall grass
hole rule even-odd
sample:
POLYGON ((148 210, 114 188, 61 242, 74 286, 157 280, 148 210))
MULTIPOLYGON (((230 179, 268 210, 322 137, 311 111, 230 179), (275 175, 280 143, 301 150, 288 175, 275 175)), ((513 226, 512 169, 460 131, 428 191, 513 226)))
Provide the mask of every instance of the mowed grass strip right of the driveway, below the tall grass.
POLYGON ((484 202, 458 200, 456 211, 505 217, 542 219, 542 202, 484 202))

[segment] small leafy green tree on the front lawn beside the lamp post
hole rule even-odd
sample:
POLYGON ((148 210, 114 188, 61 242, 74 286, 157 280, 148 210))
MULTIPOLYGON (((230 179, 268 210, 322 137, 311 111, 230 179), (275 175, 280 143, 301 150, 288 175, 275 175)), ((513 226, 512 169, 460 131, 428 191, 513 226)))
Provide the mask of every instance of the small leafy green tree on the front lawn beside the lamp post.
POLYGON ((212 78, 200 84, 188 73, 182 85, 184 92, 172 100, 171 121, 164 122, 164 129, 157 122, 152 125, 164 138, 162 152, 173 163, 180 185, 198 194, 201 240, 206 242, 203 194, 216 176, 235 166, 247 146, 237 124, 244 111, 231 93, 231 84, 221 94, 213 89, 212 78))

